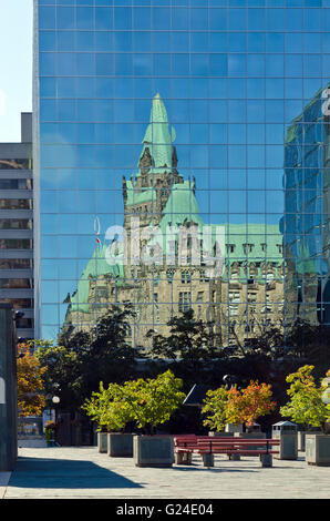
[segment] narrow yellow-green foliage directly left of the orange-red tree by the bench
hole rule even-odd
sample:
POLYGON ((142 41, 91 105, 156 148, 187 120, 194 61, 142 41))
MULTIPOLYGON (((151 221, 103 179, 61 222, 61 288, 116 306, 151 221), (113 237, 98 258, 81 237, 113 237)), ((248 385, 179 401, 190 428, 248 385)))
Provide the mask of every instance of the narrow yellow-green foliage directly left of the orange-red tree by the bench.
POLYGON ((224 386, 206 392, 205 406, 202 409, 202 413, 206 416, 204 426, 217 432, 225 429, 228 423, 228 391, 224 386))

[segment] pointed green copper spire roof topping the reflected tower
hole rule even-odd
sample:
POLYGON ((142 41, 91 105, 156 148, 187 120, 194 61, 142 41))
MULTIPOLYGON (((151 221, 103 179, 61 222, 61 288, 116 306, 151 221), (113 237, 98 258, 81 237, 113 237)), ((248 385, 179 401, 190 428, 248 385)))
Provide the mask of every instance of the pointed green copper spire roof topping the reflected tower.
POLYGON ((165 165, 171 167, 172 143, 174 140, 175 130, 172 127, 169 132, 165 105, 159 94, 156 94, 153 99, 151 120, 143 139, 143 150, 141 156, 143 155, 145 149, 148 147, 153 159, 153 166, 156 168, 162 168, 165 165))

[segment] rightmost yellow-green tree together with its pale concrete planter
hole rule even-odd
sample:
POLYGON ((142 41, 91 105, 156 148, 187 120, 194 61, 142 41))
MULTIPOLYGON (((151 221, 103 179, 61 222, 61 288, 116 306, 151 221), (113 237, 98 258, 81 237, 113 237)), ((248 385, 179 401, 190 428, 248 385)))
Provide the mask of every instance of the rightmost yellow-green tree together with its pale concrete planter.
MULTIPOLYGON (((327 395, 330 387, 330 370, 327 378, 317 386, 312 376, 314 366, 302 366, 287 376, 290 400, 280 408, 282 417, 291 418, 305 427, 306 461, 309 464, 330 466, 330 406, 327 395), (321 432, 311 432, 320 428, 321 432)), ((301 435, 300 435, 301 436, 301 435)))

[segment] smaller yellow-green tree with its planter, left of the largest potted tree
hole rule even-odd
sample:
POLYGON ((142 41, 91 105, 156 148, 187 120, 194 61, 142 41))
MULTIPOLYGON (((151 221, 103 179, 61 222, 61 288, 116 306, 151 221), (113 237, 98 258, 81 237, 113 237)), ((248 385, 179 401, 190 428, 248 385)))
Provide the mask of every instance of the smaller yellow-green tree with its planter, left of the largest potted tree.
POLYGON ((100 391, 93 392, 82 409, 97 422, 99 452, 114 457, 133 456, 133 435, 124 432, 132 415, 124 400, 123 386, 110 384, 105 389, 101 381, 100 391))

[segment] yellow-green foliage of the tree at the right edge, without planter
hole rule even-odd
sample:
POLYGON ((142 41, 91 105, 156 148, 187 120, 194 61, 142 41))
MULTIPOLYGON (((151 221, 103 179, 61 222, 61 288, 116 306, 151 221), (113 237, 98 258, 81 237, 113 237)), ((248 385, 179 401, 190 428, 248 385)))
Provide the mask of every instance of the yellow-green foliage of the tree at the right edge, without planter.
POLYGON ((306 428, 321 427, 326 430, 326 422, 330 420, 330 408, 322 401, 324 388, 317 387, 311 374, 313 369, 313 366, 306 365, 288 375, 287 382, 290 387, 287 394, 290 400, 280 408, 280 413, 306 428))

